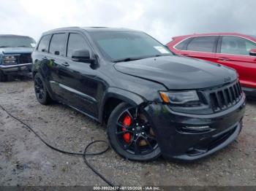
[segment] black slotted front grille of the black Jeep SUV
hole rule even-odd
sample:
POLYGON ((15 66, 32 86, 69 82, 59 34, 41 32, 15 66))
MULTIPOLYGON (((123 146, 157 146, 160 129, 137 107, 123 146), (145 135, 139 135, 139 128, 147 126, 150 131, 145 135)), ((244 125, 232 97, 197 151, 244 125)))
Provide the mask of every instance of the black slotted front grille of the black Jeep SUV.
POLYGON ((242 90, 240 83, 234 82, 224 87, 219 87, 216 90, 208 93, 209 100, 214 112, 219 112, 235 105, 241 100, 242 90))

